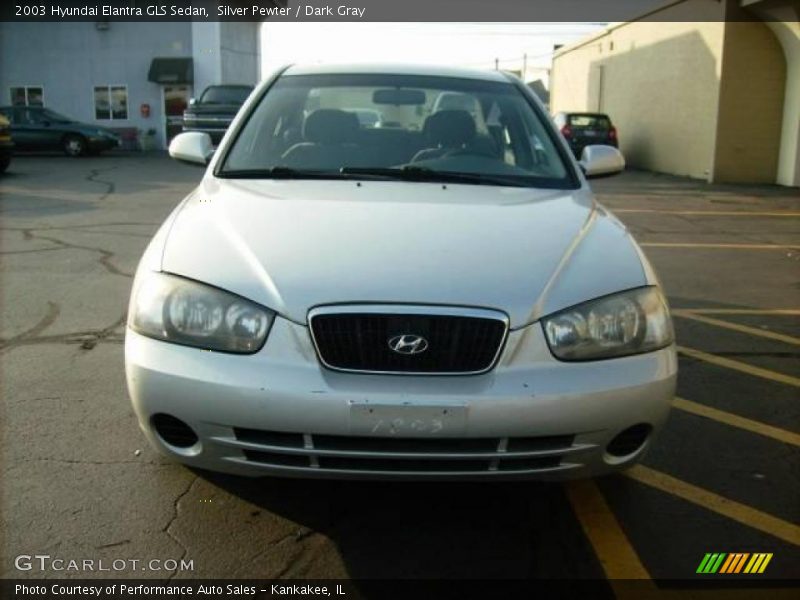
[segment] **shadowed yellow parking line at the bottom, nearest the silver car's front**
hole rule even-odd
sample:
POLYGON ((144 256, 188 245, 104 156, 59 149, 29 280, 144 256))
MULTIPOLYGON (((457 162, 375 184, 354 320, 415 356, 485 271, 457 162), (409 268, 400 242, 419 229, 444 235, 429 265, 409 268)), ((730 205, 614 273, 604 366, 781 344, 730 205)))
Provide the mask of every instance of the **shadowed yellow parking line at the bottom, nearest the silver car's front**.
POLYGON ((591 479, 570 481, 567 496, 608 579, 650 579, 639 555, 591 479))

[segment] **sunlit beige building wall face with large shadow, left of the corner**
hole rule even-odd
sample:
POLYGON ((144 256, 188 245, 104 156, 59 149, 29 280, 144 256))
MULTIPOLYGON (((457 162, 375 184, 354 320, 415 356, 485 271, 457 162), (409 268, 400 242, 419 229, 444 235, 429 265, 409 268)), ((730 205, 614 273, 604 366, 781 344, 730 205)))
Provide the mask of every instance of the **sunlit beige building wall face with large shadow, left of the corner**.
POLYGON ((557 53, 552 112, 607 112, 632 167, 709 177, 725 23, 677 21, 689 10, 697 14, 695 4, 668 9, 674 22, 613 26, 557 53))

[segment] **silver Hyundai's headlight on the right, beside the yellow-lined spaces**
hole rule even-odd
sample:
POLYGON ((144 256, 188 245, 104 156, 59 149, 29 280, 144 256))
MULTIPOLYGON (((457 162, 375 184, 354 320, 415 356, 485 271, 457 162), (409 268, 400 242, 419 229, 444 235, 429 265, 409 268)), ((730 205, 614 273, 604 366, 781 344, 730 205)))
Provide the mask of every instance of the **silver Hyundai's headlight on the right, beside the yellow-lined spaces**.
POLYGON ((561 360, 641 354, 673 340, 667 303, 658 288, 605 296, 542 319, 550 351, 561 360))

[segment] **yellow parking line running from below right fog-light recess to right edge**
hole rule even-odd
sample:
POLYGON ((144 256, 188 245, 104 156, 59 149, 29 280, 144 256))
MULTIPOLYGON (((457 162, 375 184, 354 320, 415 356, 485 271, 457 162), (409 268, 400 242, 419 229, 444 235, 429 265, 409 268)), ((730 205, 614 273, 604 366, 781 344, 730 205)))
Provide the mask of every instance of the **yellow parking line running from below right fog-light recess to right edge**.
POLYGON ((758 529, 795 546, 800 546, 800 527, 789 521, 762 512, 746 504, 725 498, 714 492, 704 490, 691 483, 676 479, 671 475, 656 471, 643 465, 636 465, 624 472, 624 475, 661 490, 673 496, 683 498, 717 514, 738 521, 743 525, 758 529))

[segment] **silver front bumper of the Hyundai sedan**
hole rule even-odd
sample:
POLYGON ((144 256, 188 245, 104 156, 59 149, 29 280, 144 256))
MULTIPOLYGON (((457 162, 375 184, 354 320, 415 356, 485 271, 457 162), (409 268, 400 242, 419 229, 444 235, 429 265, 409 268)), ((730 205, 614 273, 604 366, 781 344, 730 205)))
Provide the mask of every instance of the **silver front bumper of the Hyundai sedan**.
POLYGON ((665 422, 675 389, 674 348, 566 363, 538 323, 512 331, 483 375, 341 373, 320 366, 306 327, 277 318, 265 346, 232 355, 168 344, 130 329, 128 389, 151 444, 187 465, 240 475, 399 479, 565 479, 638 461, 665 422), (364 435, 353 406, 454 407, 447 434, 364 435), (188 424, 198 441, 168 444, 153 416, 188 424), (634 425, 652 434, 625 456, 609 442, 634 425))

